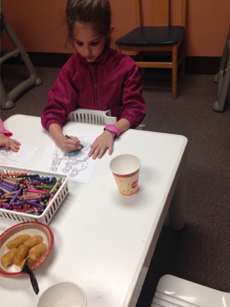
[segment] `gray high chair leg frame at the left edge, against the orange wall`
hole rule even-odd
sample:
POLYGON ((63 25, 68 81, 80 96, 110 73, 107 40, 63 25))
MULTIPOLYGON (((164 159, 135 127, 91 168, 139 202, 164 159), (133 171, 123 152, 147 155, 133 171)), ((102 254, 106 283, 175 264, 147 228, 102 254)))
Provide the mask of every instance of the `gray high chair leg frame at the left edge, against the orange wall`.
POLYGON ((1 12, 1 27, 6 31, 9 35, 10 40, 12 41, 13 45, 15 46, 15 50, 12 52, 6 53, 4 56, 1 56, 0 64, 2 64, 5 60, 9 59, 12 56, 20 55, 21 60, 23 60, 25 66, 29 70, 30 77, 23 81, 21 84, 17 85, 12 91, 9 93, 6 92, 5 87, 1 83, 1 107, 2 109, 9 109, 14 106, 14 102, 19 95, 25 92, 27 89, 42 84, 42 80, 38 77, 37 72, 31 62, 28 54, 26 53, 25 49, 21 45, 21 42, 17 38, 16 34, 13 32, 12 28, 10 27, 9 23, 7 22, 6 18, 1 12))

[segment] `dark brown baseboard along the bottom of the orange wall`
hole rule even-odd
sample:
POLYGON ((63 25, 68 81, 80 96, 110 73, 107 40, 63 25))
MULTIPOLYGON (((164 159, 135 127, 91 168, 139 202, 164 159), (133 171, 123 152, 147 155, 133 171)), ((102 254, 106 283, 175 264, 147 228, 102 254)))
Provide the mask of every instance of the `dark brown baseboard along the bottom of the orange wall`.
MULTIPOLYGON (((34 66, 41 67, 59 67, 61 68, 69 59, 71 54, 68 53, 50 53, 50 52, 28 52, 34 66)), ((152 57, 152 60, 170 61, 170 57, 152 57)), ((220 65, 220 56, 186 56, 185 72, 187 74, 204 74, 215 75, 220 65)), ((4 64, 22 65, 23 62, 19 58, 10 58, 4 64)), ((169 69, 149 68, 151 72, 169 72, 169 69)))

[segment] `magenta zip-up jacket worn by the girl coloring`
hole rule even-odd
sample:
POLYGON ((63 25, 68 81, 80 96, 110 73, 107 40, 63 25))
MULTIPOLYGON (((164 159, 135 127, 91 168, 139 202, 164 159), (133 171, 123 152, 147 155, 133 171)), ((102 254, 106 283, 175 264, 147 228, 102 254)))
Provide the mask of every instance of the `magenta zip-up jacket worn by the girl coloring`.
POLYGON ((89 63, 76 52, 64 64, 49 91, 41 123, 46 130, 52 123, 62 127, 73 109, 84 108, 111 110, 117 120, 125 118, 134 128, 146 114, 141 92, 138 67, 129 56, 106 47, 89 63))

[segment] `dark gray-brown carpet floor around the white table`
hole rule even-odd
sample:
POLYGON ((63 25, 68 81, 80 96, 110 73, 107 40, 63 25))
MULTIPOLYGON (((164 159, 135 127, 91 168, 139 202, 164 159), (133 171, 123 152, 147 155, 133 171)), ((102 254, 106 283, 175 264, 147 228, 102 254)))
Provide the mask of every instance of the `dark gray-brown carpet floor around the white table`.
MULTIPOLYGON (((14 114, 40 116, 59 68, 36 68, 44 83, 1 110, 2 120, 14 114)), ((25 79, 23 66, 2 65, 9 91, 25 79), (14 76, 13 78, 9 76, 14 76)), ((147 103, 145 130, 188 138, 186 226, 161 231, 137 307, 149 307, 158 280, 172 274, 230 292, 230 91, 223 113, 212 110, 217 84, 212 75, 186 75, 178 80, 178 99, 171 99, 168 74, 143 76, 147 103)))

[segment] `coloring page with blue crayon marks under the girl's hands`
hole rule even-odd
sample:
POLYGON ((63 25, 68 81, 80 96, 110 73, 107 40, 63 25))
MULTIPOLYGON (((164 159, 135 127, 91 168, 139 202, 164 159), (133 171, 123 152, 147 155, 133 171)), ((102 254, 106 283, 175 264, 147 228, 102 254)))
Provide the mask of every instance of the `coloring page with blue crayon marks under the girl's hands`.
MULTIPOLYGON (((76 132, 66 132, 68 135, 76 136, 76 132)), ((89 157, 90 146, 100 134, 78 133, 77 137, 83 146, 72 153, 64 152, 56 143, 52 142, 46 152, 42 155, 42 161, 36 165, 51 173, 64 173, 69 175, 69 181, 88 183, 97 163, 89 157)))

